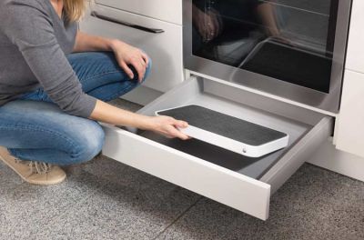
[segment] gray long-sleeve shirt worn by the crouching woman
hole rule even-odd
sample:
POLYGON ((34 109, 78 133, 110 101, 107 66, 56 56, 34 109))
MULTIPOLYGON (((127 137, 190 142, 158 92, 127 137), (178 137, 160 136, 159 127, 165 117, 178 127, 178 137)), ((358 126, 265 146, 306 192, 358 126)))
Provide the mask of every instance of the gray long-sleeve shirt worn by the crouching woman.
POLYGON ((76 31, 50 0, 0 0, 0 105, 43 87, 66 113, 91 115, 96 98, 82 91, 66 59, 76 31))

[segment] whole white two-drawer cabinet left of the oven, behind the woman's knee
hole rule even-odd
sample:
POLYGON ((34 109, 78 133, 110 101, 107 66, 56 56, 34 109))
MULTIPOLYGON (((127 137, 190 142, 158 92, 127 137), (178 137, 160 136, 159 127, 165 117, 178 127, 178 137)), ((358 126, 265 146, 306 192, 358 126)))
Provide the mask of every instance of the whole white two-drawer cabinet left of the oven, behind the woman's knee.
POLYGON ((89 34, 121 39, 147 52, 153 60, 151 75, 142 88, 129 94, 134 102, 147 104, 183 81, 181 15, 180 1, 97 0, 80 28, 89 34), (156 4, 167 5, 170 11, 156 12, 160 9, 156 4))

